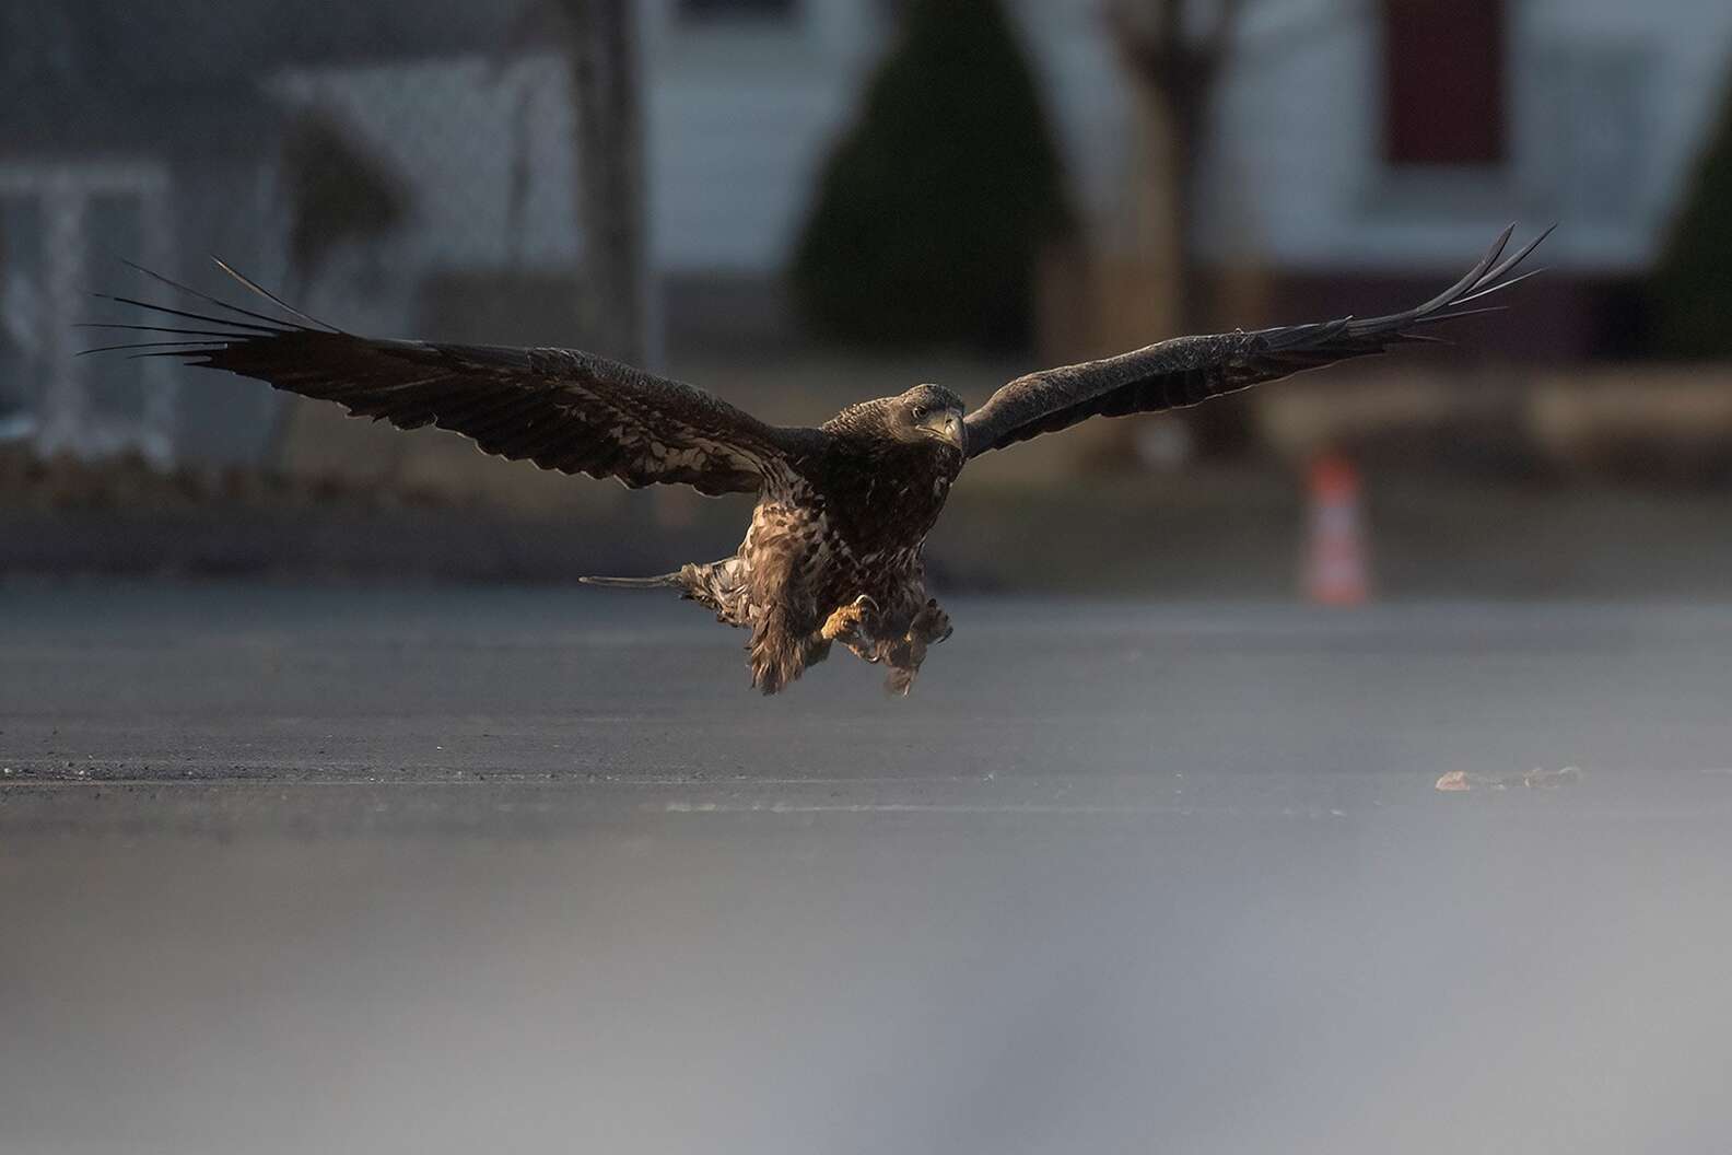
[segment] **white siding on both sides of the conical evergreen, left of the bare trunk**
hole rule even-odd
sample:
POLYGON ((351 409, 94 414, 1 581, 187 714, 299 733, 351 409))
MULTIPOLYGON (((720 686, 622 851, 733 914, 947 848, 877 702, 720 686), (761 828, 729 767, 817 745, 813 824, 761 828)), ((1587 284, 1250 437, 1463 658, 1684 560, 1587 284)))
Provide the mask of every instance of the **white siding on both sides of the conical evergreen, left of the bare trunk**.
MULTIPOLYGON (((663 272, 767 275, 887 45, 878 0, 804 0, 790 24, 681 26, 648 9, 651 253, 663 272)), ((1126 201, 1129 104, 1096 0, 1011 0, 1084 220, 1126 201)))

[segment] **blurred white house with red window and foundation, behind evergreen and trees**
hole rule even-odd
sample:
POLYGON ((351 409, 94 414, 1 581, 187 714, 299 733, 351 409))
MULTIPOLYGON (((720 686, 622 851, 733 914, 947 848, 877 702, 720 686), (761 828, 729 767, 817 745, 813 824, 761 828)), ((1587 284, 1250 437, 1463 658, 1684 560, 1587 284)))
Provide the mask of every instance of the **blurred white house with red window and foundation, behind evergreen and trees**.
MULTIPOLYGON (((1138 107, 1100 0, 1006 3, 1084 246, 1108 268, 1169 260, 1159 246, 1148 256, 1159 123, 1138 107)), ((708 315, 750 332, 741 320, 776 317, 812 175, 894 5, 646 7, 651 223, 670 324, 682 334, 708 315)), ((1630 287, 1678 206, 1729 62, 1732 5, 1709 0, 1247 0, 1197 158, 1195 246, 1205 265, 1256 274, 1261 293, 1242 308, 1292 319, 1424 293, 1510 220, 1555 220, 1548 313, 1507 331, 1510 352, 1630 353, 1630 287)))

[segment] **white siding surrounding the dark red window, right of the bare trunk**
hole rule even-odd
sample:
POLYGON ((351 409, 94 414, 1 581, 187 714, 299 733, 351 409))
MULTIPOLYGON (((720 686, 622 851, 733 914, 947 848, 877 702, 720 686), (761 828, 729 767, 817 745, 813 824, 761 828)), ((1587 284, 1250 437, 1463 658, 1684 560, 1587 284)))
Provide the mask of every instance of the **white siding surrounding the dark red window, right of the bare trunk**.
POLYGON ((1512 163, 1493 175, 1391 173, 1368 7, 1251 9, 1209 161, 1207 242, 1287 268, 1460 263, 1521 218, 1562 230, 1550 261, 1628 272, 1654 255, 1723 97, 1732 5, 1512 5, 1512 163))

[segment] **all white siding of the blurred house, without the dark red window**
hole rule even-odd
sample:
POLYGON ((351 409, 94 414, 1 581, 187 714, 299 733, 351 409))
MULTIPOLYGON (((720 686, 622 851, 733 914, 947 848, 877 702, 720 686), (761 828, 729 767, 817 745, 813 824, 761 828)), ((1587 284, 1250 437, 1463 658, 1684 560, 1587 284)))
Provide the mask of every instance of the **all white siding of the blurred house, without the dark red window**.
MULTIPOLYGON (((1096 239, 1124 218, 1129 92, 1100 0, 1010 0, 1096 239)), ((885 43, 876 0, 805 0, 790 26, 679 28, 646 7, 653 253, 663 270, 772 274, 885 43)), ((1554 265, 1652 258, 1725 90, 1732 3, 1512 2, 1512 161, 1391 173, 1365 0, 1249 0, 1205 158, 1205 248, 1296 270, 1460 263, 1510 220, 1564 229, 1554 265)))

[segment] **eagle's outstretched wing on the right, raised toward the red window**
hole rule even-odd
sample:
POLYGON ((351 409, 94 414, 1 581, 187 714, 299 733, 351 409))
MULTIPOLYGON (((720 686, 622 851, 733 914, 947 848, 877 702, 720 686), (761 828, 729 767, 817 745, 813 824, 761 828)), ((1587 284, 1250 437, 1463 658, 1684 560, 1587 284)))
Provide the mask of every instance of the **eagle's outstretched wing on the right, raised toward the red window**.
POLYGON ((1464 306, 1533 275, 1509 277, 1552 230, 1547 229, 1498 263, 1514 232, 1516 225, 1505 229, 1465 277, 1405 313, 1178 338, 1134 353, 1018 377, 968 414, 968 455, 979 457, 1043 433, 1069 429, 1089 417, 1124 417, 1197 405, 1304 369, 1382 353, 1393 345, 1429 341, 1432 338, 1412 329, 1486 312, 1464 306))

